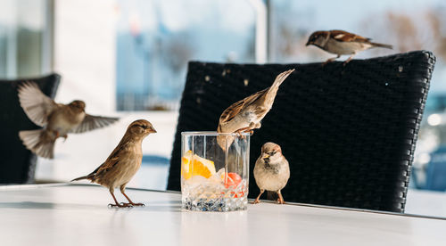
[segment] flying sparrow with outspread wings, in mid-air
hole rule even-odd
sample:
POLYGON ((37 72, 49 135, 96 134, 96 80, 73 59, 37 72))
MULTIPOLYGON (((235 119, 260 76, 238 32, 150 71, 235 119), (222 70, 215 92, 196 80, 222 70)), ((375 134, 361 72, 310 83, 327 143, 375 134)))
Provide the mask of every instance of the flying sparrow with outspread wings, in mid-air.
POLYGON ((23 111, 34 124, 43 127, 20 131, 19 136, 27 149, 43 158, 54 158, 54 143, 58 137, 66 140, 69 133, 91 131, 119 119, 89 115, 85 112, 86 104, 83 101, 56 103, 43 94, 34 82, 21 84, 18 92, 23 111))

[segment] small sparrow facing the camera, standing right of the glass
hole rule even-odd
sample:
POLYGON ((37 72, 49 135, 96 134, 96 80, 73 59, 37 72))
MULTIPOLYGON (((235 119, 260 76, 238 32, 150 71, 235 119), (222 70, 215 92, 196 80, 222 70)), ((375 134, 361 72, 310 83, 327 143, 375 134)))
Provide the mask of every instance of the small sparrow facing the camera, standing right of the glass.
POLYGON ((271 142, 263 144, 260 157, 254 166, 254 179, 260 188, 260 194, 253 203, 259 203, 261 194, 268 191, 277 193, 277 203, 284 204, 285 201, 280 191, 285 187, 289 178, 290 167, 280 146, 271 142))

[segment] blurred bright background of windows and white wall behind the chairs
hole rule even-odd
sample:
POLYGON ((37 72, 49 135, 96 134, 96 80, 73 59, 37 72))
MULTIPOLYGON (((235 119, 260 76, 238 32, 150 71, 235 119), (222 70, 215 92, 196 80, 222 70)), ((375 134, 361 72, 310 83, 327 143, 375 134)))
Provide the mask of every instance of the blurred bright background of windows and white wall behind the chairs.
POLYGON ((310 33, 321 29, 345 29, 394 47, 357 59, 434 52, 407 210, 446 216, 445 205, 410 200, 410 193, 446 191, 442 0, 0 0, 0 78, 55 71, 62 75, 56 101, 82 99, 91 114, 121 117, 112 127, 58 140, 55 159, 38 160, 37 182, 66 182, 91 172, 131 121, 149 119, 158 133, 145 140, 142 168, 128 186, 163 190, 187 61, 326 61, 333 55, 305 46, 310 33))

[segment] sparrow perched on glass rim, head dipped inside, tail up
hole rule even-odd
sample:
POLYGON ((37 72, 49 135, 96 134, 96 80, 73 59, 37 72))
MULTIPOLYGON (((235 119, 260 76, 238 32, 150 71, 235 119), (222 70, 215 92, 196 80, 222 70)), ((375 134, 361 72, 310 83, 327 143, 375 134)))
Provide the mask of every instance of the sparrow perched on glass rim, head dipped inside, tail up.
MULTIPOLYGON (((241 101, 230 105, 219 118, 219 133, 244 133, 261 127, 263 119, 273 106, 279 86, 294 70, 286 70, 277 75, 272 86, 252 94, 241 101)), ((232 136, 219 135, 217 142, 225 150, 234 141, 232 136)))

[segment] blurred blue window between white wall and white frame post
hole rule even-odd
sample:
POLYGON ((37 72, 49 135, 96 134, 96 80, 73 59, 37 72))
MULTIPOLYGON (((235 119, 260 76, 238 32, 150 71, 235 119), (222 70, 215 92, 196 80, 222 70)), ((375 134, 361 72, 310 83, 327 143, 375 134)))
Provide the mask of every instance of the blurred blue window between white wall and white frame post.
POLYGON ((187 62, 253 62, 248 1, 119 1, 117 109, 176 110, 187 62))

